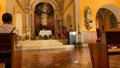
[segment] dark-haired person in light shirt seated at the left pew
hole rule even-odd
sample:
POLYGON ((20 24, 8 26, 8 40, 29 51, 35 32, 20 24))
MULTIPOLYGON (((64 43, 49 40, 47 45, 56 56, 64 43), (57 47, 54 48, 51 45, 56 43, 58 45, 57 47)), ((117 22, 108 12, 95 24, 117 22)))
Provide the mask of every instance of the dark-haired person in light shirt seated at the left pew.
MULTIPOLYGON (((0 25, 0 33, 16 33, 17 39, 19 37, 19 31, 12 25, 12 15, 10 13, 4 13, 2 15, 3 25, 0 25)), ((5 53, 0 52, 0 59, 10 58, 11 51, 5 53)), ((5 68, 11 68, 11 63, 5 63, 5 68)))

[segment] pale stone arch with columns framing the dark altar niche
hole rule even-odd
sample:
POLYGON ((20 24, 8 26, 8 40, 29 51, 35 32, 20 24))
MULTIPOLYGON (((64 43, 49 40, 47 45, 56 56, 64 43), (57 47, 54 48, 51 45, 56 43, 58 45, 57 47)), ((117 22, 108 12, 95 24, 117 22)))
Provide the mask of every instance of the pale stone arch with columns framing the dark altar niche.
MULTIPOLYGON (((35 11, 35 7, 37 4, 41 3, 41 2, 45 2, 45 3, 49 3, 50 5, 52 5, 53 9, 54 9, 54 17, 55 17, 55 20, 56 20, 56 15, 58 14, 59 12, 59 5, 56 3, 56 1, 50 1, 50 0, 34 0, 34 1, 31 1, 30 2, 30 7, 31 7, 31 10, 30 10, 30 13, 31 15, 33 16, 32 19, 33 21, 31 22, 32 24, 32 28, 31 28, 31 36, 33 39, 35 39, 35 28, 34 28, 34 11, 35 11)), ((55 31, 57 30, 56 28, 56 21, 55 21, 55 31)))

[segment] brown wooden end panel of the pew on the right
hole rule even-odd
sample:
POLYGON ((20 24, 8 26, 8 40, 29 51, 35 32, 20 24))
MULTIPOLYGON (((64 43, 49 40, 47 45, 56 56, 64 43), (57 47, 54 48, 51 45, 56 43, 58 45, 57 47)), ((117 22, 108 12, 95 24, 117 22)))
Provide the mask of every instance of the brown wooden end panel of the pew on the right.
POLYGON ((89 43, 93 68, 109 68, 107 47, 100 43, 89 43))

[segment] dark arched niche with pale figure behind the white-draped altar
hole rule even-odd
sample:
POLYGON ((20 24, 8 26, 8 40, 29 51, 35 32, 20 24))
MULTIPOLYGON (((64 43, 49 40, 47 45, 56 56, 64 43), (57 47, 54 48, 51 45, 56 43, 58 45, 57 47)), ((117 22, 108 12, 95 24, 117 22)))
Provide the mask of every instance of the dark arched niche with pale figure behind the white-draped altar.
POLYGON ((35 35, 38 35, 40 30, 52 30, 54 35, 54 20, 54 9, 51 4, 46 2, 37 4, 34 11, 35 35))

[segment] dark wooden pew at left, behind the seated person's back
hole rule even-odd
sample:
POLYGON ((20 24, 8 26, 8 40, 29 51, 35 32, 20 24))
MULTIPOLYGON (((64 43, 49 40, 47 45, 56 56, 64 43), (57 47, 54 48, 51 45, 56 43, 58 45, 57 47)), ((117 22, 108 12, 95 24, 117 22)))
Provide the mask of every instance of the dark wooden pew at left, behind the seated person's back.
POLYGON ((0 63, 11 63, 11 68, 22 68, 22 51, 16 44, 16 34, 0 33, 0 63))

